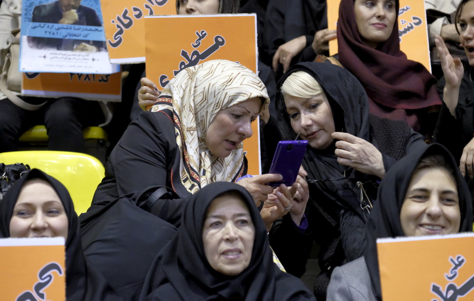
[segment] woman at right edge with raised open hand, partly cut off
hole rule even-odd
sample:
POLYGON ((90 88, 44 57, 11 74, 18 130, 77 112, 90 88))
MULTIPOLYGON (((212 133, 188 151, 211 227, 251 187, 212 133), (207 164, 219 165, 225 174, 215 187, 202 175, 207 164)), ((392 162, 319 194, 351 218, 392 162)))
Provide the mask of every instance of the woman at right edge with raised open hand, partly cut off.
POLYGON ((436 47, 444 77, 439 80, 438 92, 443 105, 439 112, 434 139, 446 146, 459 162, 462 174, 474 177, 474 106, 472 66, 474 56, 474 1, 462 0, 456 10, 456 30, 468 61, 461 62, 448 52, 443 40, 436 37, 436 47))

